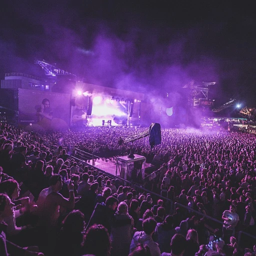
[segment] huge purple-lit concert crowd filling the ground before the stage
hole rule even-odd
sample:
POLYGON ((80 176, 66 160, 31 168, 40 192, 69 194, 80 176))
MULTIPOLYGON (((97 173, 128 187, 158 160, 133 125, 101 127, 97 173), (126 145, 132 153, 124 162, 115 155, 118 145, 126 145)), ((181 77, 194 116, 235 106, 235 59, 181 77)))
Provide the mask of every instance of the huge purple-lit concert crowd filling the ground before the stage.
POLYGON ((130 151, 119 138, 145 130, 0 123, 0 255, 256 255, 255 135, 170 128, 152 148, 137 139, 132 152, 155 166, 139 191, 74 157, 114 161, 130 151))

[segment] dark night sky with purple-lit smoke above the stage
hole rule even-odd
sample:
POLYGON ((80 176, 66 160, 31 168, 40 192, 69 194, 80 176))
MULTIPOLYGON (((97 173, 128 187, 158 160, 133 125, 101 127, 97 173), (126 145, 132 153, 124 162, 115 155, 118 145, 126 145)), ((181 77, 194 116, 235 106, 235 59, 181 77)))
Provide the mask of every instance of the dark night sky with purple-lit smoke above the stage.
POLYGON ((4 0, 0 78, 43 76, 36 58, 88 83, 154 95, 216 81, 208 98, 256 107, 255 17, 253 1, 4 0))

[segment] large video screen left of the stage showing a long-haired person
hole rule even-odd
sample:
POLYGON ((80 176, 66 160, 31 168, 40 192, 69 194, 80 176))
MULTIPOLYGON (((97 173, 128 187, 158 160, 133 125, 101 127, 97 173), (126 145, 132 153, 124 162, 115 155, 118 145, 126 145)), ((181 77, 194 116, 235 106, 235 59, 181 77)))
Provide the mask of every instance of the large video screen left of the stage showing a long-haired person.
POLYGON ((70 95, 18 89, 18 122, 29 130, 65 130, 69 126, 70 95))

